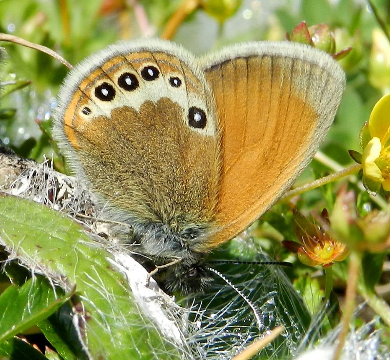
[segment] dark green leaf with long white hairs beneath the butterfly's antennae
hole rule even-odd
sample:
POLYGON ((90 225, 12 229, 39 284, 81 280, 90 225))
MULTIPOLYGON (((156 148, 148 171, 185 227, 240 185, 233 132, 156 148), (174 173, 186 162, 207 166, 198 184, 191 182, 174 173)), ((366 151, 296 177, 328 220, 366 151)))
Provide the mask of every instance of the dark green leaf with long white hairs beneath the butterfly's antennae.
MULTIPOLYGON (((225 244, 213 256, 218 260, 272 260, 264 256, 253 241, 240 237, 225 244)), ((264 329, 276 325, 283 325, 286 329, 289 341, 283 337, 275 339, 255 359, 290 359, 292 344, 300 343, 300 336, 307 332, 312 318, 302 298, 283 273, 284 267, 239 261, 234 264, 222 261, 211 265, 251 301, 262 319, 264 329)), ((224 280, 216 277, 211 288, 205 294, 196 294, 194 300, 195 308, 196 303, 202 303, 201 309, 204 309, 201 319, 195 318, 203 331, 199 332, 199 337, 195 334, 194 340, 208 349, 208 357, 230 359, 232 346, 243 338, 258 336, 254 310, 224 280), (221 333, 223 340, 219 341, 215 334, 221 333)), ((186 301, 192 303, 191 297, 186 301)), ((193 319, 194 314, 190 314, 190 317, 193 319)))

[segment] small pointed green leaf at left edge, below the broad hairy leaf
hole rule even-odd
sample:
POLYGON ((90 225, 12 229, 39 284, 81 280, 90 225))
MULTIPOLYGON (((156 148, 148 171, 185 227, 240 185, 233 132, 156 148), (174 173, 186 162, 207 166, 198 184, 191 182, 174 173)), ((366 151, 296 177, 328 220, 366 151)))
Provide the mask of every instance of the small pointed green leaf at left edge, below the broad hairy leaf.
POLYGON ((0 342, 46 319, 69 298, 58 298, 53 286, 41 276, 20 288, 9 286, 0 296, 0 342))

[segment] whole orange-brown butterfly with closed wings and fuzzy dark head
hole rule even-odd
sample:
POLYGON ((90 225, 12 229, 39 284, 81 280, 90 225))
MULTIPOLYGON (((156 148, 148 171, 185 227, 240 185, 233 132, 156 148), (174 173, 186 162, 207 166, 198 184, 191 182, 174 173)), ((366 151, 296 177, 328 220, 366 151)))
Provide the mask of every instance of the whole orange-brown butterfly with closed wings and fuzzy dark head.
POLYGON ((257 219, 311 160, 344 75, 326 54, 247 43, 196 59, 163 40, 119 42, 60 90, 54 135, 73 171, 133 227, 129 242, 202 289, 204 255, 257 219))

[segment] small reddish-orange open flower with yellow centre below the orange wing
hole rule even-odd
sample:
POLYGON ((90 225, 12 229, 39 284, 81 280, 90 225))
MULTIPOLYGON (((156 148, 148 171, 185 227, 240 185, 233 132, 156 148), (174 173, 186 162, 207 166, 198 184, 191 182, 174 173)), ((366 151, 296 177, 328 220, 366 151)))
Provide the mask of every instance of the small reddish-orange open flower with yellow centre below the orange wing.
MULTIPOLYGON (((300 243, 287 240, 283 241, 283 245, 295 252, 303 264, 328 267, 348 256, 349 251, 343 243, 332 239, 321 226, 309 221, 300 212, 294 211, 293 220, 294 233, 300 243)), ((329 226, 326 210, 321 213, 321 220, 329 226)))

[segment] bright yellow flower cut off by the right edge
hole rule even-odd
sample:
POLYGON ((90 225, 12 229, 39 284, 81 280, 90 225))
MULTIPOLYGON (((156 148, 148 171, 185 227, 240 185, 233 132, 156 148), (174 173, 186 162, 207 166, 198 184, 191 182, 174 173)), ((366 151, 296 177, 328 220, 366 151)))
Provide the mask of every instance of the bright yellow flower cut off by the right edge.
POLYGON ((372 109, 370 120, 360 133, 363 149, 363 180, 372 191, 390 191, 390 95, 382 97, 372 109))

